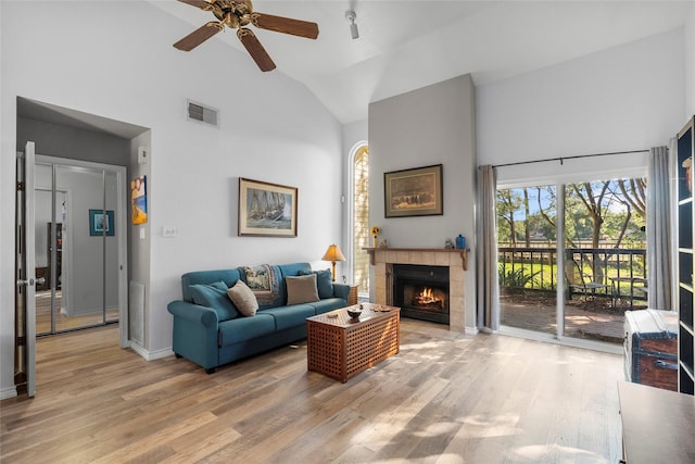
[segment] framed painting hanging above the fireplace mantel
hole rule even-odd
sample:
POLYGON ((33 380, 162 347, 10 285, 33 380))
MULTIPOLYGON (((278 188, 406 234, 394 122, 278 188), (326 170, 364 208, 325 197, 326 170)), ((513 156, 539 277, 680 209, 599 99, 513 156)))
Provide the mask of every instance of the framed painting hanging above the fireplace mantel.
POLYGON ((384 216, 444 214, 442 165, 383 173, 384 216))

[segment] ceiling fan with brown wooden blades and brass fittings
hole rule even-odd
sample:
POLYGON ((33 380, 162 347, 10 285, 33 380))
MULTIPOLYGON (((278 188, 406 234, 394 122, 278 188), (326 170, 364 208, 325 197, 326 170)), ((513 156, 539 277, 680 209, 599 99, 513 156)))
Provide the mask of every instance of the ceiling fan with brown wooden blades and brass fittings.
POLYGON ((315 39, 318 37, 318 25, 306 21, 289 17, 274 16, 271 14, 255 13, 251 0, 178 0, 180 2, 198 7, 204 11, 212 11, 218 21, 211 21, 193 30, 174 47, 182 51, 191 51, 215 34, 227 27, 237 29, 237 37, 241 40, 253 61, 261 71, 275 70, 275 63, 265 51, 253 30, 244 26, 253 24, 262 29, 276 33, 291 34, 293 36, 315 39))

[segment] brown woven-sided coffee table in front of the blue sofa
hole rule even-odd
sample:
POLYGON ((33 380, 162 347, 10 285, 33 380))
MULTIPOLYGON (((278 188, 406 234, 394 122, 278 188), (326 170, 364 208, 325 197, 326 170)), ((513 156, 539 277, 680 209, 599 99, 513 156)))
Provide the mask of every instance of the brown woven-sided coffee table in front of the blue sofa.
POLYGON ((401 309, 363 303, 359 321, 346 310, 306 319, 307 368, 342 383, 401 349, 401 309))

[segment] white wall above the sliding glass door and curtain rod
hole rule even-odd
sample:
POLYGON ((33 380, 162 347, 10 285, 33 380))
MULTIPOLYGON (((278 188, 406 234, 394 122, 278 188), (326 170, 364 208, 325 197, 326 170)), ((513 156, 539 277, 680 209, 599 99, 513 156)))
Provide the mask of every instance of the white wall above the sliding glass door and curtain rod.
MULTIPOLYGON (((685 123, 683 29, 477 88, 478 162, 667 145, 685 123)), ((645 165, 621 155, 502 167, 498 181, 645 165)))

